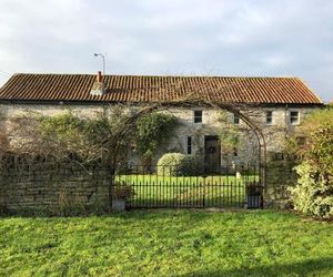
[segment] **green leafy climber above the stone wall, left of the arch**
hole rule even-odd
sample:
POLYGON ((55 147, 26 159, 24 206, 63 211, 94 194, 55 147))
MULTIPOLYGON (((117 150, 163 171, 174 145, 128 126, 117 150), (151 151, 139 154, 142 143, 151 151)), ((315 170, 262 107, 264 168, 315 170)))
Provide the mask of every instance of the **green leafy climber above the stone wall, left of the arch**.
POLYGON ((102 156, 114 156, 115 147, 128 145, 128 140, 120 137, 115 143, 117 134, 123 124, 120 120, 127 119, 128 116, 120 114, 117 109, 111 116, 101 113, 93 119, 79 117, 68 112, 39 117, 38 132, 51 148, 57 148, 59 154, 69 152, 82 161, 98 160, 102 156))

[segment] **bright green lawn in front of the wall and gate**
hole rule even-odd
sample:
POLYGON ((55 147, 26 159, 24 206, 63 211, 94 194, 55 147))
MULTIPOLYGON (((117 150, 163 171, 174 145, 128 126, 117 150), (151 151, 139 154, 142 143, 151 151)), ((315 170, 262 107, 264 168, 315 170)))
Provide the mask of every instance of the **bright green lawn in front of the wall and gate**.
POLYGON ((270 211, 0 218, 0 276, 333 276, 333 225, 270 211))

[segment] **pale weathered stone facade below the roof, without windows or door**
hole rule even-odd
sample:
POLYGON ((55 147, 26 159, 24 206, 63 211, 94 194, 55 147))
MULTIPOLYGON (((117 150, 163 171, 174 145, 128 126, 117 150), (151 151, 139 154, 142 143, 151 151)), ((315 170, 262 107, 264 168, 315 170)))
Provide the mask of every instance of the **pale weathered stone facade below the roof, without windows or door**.
MULTIPOLYGON (((51 105, 51 104, 1 104, 0 105, 0 126, 2 130, 10 129, 10 120, 22 114, 42 114, 57 115, 71 111, 79 116, 91 117, 101 113, 105 109, 112 109, 112 105, 51 105)), ((265 137, 268 152, 281 152, 284 147, 286 136, 294 132, 300 124, 305 120, 306 114, 313 111, 313 106, 290 107, 287 105, 275 106, 256 106, 244 110, 243 113, 252 122, 254 122, 265 137), (272 112, 272 123, 266 124, 266 112, 272 112), (299 112, 300 122, 297 124, 290 123, 291 111, 299 112)), ((192 137, 191 154, 199 157, 204 156, 205 136, 219 136, 221 143, 221 163, 251 163, 258 161, 259 144, 255 133, 240 121, 240 124, 233 124, 233 114, 222 110, 214 109, 182 109, 169 107, 164 113, 171 113, 178 119, 178 126, 174 130, 174 135, 168 145, 163 145, 155 156, 153 163, 157 163, 159 157, 167 152, 186 153, 188 137, 192 137), (202 122, 194 123, 194 111, 202 110, 202 122), (223 146, 223 135, 228 130, 233 129, 234 133, 239 134, 238 154, 228 147, 223 146)), ((131 163, 139 163, 140 156, 132 152, 129 154, 131 163)))

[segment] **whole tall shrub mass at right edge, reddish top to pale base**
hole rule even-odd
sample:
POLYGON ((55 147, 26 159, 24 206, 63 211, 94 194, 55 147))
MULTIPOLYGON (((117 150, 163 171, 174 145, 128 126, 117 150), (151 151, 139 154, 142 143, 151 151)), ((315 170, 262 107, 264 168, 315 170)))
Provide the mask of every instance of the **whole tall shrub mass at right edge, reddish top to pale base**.
POLYGON ((299 146, 302 162, 295 167, 297 185, 291 187, 296 211, 322 218, 333 218, 333 124, 322 121, 299 146))

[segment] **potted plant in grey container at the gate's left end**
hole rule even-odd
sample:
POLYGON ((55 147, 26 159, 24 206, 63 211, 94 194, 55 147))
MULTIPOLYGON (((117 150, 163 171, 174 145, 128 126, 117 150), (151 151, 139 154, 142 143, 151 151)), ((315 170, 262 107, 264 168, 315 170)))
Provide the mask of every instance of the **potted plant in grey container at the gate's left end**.
POLYGON ((125 182, 114 182, 111 187, 112 209, 122 212, 125 211, 127 199, 134 195, 132 186, 125 182))

